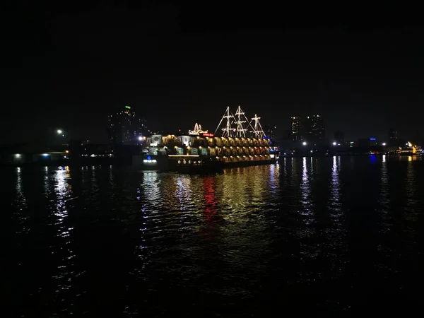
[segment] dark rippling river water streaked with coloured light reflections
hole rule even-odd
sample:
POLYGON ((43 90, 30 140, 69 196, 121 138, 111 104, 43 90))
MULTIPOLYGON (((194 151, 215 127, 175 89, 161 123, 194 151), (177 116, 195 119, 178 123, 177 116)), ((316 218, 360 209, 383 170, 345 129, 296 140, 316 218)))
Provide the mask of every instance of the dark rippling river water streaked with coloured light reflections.
POLYGON ((13 266, 23 273, 15 279, 16 308, 93 316, 94 302, 114 317, 165 317, 175 302, 201 310, 208 299, 211 312, 247 315, 260 311, 261 299, 293 307, 288 295, 319 290, 331 297, 303 300, 343 312, 351 305, 343 293, 366 278, 396 292, 394 271, 406 290, 419 270, 411 264, 422 164, 389 156, 281 158, 216 175, 15 168, 4 174, 13 184, 4 203, 12 207, 13 266), (362 249, 369 265, 357 259, 362 249))

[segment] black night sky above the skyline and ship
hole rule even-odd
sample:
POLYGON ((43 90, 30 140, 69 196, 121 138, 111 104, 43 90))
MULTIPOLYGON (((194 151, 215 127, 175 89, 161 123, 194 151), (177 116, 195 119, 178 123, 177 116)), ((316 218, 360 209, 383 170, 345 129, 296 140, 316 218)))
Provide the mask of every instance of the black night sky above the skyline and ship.
POLYGON ((107 114, 123 105, 165 131, 214 131, 227 105, 241 105, 279 135, 307 114, 324 116, 329 138, 424 135, 424 33, 413 18, 259 2, 33 2, 2 13, 0 143, 49 127, 106 142, 107 114))

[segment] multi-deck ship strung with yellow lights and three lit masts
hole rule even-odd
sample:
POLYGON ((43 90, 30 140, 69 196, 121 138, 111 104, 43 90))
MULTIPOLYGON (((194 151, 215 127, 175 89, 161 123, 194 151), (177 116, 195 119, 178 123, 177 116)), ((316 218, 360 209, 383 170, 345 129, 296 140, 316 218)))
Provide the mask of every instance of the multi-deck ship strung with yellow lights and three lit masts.
POLYGON ((255 114, 249 122, 240 106, 235 115, 227 107, 214 134, 197 123, 189 134, 154 134, 146 138, 147 154, 133 158, 133 163, 142 170, 179 172, 276 163, 278 148, 265 136, 259 119, 255 114), (216 136, 217 131, 221 136, 216 136))

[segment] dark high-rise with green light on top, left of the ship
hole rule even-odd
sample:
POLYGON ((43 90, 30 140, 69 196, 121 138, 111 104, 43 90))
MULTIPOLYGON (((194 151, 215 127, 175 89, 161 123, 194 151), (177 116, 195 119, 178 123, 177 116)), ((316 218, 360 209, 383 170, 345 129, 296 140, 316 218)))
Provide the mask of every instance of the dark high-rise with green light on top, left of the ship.
POLYGON ((107 117, 109 141, 115 145, 137 145, 143 141, 143 136, 151 134, 146 127, 146 121, 136 116, 131 106, 125 106, 107 117))

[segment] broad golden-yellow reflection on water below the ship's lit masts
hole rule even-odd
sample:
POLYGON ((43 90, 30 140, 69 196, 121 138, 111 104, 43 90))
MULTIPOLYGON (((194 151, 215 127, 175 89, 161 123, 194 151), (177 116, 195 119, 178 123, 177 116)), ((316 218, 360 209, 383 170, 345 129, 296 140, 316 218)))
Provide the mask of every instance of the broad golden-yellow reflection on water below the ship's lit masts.
POLYGON ((267 252, 268 237, 262 233, 269 225, 266 215, 275 195, 269 191, 269 183, 277 182, 277 171, 272 165, 259 165, 228 170, 216 177, 214 195, 220 207, 217 216, 223 246, 220 258, 230 268, 247 265, 248 259, 262 259, 267 252))

